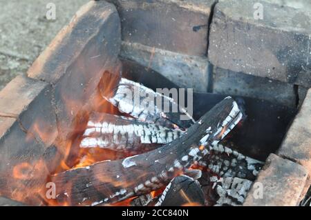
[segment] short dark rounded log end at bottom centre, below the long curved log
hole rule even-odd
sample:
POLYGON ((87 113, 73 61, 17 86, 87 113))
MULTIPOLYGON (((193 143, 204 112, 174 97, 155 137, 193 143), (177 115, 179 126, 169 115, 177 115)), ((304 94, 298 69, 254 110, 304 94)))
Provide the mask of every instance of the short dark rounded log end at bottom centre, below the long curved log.
POLYGON ((191 177, 175 177, 167 185, 156 206, 204 206, 200 183, 191 177))

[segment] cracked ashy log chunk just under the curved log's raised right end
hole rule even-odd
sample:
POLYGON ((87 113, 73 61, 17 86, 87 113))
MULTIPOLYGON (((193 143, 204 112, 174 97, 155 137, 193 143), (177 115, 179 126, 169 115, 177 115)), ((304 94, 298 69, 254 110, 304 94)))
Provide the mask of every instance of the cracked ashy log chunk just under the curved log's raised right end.
POLYGON ((256 179, 263 164, 221 144, 213 146, 211 153, 198 163, 220 177, 239 177, 251 181, 256 179))

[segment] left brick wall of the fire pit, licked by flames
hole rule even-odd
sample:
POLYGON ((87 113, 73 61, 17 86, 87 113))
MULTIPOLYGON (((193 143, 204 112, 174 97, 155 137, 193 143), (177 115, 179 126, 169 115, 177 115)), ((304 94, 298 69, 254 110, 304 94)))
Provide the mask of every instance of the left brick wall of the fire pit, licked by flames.
POLYGON ((120 45, 115 7, 90 1, 32 64, 28 77, 1 90, 1 195, 41 204, 41 190, 64 156, 74 119, 97 92, 102 74, 117 68, 120 45))

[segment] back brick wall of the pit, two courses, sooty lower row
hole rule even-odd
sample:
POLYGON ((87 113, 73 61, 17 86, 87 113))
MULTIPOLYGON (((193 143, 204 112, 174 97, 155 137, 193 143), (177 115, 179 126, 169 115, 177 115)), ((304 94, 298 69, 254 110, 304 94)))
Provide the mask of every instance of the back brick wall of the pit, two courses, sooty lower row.
POLYGON ((109 1, 122 21, 122 57, 180 87, 296 107, 311 86, 311 15, 303 8, 276 0, 109 1), (254 18, 255 3, 263 20, 254 18))

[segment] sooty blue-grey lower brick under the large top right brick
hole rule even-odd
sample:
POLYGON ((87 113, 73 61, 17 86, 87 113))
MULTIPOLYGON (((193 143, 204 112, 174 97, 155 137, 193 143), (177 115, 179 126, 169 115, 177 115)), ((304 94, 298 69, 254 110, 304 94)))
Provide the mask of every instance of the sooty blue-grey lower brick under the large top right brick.
POLYGON ((273 79, 255 77, 243 72, 214 68, 213 92, 252 97, 296 108, 294 86, 273 79))

